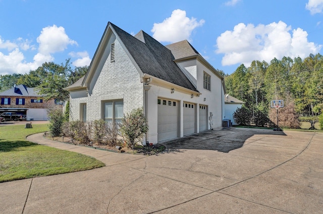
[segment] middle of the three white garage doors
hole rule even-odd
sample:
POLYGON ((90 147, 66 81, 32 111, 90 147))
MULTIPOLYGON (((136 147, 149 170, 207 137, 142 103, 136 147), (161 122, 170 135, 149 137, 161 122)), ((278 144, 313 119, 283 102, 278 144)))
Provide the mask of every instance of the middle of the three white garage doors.
POLYGON ((195 107, 192 103, 184 102, 183 133, 184 135, 195 133, 195 107))

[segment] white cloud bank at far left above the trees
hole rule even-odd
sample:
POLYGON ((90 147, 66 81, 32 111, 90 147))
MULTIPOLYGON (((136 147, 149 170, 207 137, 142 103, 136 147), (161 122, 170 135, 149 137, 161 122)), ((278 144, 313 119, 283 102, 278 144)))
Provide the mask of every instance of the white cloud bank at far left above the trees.
MULTIPOLYGON (((37 37, 38 52, 28 52, 37 50, 32 41, 19 37, 14 41, 4 40, 0 36, 0 49, 6 51, 0 52, 0 74, 25 74, 30 70, 35 70, 44 62, 52 62, 53 53, 63 51, 68 45, 77 45, 77 42, 70 39, 63 27, 56 25, 48 26, 42 29, 37 37), (24 54, 34 55, 32 62, 26 62, 24 54)), ((83 61, 86 61, 84 57, 83 61)))

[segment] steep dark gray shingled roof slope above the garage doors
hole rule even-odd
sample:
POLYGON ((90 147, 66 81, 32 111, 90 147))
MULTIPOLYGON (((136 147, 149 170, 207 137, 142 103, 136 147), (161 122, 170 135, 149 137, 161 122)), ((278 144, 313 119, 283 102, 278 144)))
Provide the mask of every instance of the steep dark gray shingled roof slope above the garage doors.
POLYGON ((198 91, 173 61, 175 57, 171 50, 144 31, 140 31, 136 35, 138 38, 136 38, 111 22, 109 24, 118 34, 143 73, 198 91))

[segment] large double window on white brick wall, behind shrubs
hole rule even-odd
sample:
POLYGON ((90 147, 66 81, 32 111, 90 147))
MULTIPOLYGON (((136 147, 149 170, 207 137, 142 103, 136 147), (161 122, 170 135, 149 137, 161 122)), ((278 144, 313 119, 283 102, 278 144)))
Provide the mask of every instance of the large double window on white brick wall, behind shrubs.
POLYGON ((103 101, 103 120, 120 123, 123 118, 123 100, 103 101))

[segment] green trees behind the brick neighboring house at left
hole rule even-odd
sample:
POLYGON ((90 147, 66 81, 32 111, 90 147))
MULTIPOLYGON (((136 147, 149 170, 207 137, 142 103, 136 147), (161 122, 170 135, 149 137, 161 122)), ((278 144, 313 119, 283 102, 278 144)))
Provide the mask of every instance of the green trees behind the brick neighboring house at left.
POLYGON ((39 94, 44 94, 44 99, 67 100, 69 92, 63 88, 72 85, 86 74, 88 66, 72 69, 70 59, 59 65, 45 62, 36 70, 28 74, 0 75, 0 92, 12 88, 15 84, 24 84, 35 88, 39 94))

